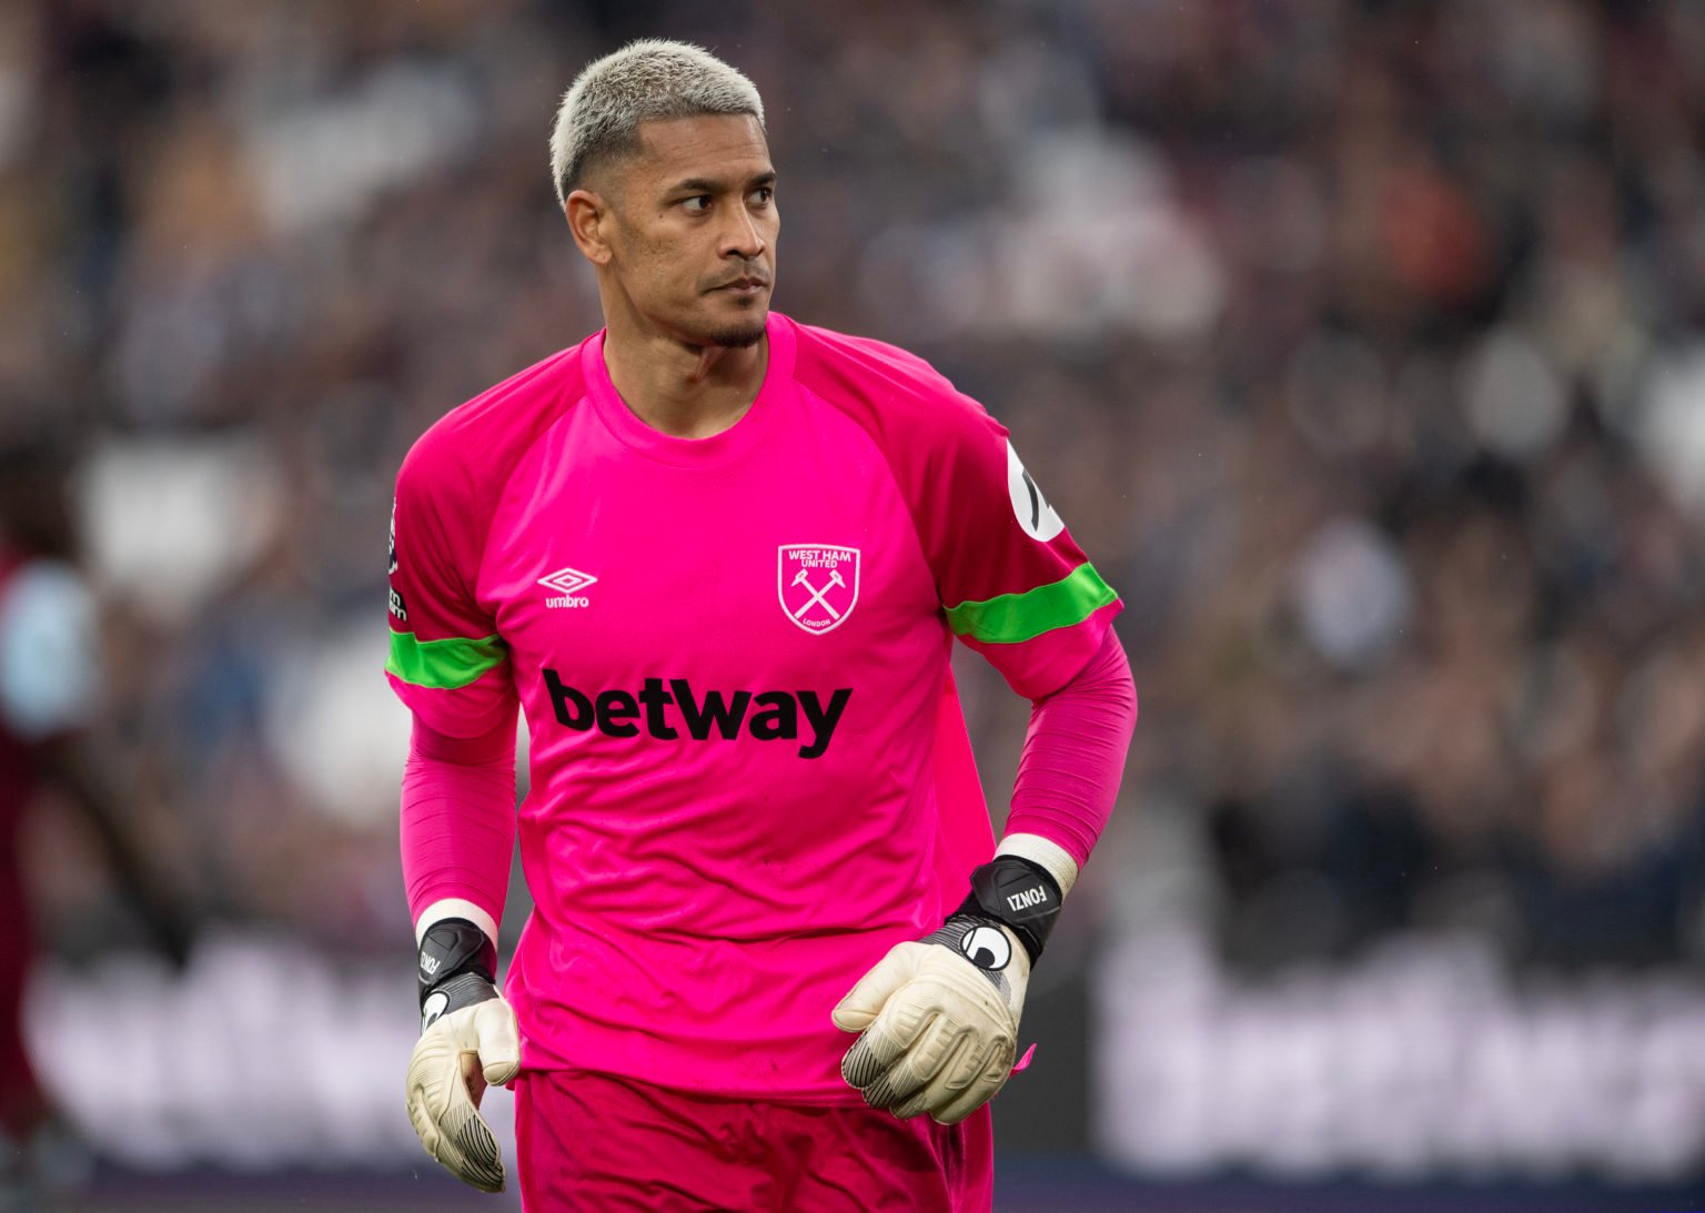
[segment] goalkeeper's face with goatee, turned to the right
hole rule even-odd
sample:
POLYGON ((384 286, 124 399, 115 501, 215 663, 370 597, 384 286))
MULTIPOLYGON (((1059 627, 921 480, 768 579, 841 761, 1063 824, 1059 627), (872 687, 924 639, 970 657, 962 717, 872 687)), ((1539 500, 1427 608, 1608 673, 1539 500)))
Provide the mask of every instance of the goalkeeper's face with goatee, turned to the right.
MULTIPOLYGON (((609 267, 634 312, 692 346, 764 336, 776 281, 776 170, 755 118, 644 123, 641 150, 597 179, 609 267)), ((597 189, 597 184, 593 184, 597 189)))

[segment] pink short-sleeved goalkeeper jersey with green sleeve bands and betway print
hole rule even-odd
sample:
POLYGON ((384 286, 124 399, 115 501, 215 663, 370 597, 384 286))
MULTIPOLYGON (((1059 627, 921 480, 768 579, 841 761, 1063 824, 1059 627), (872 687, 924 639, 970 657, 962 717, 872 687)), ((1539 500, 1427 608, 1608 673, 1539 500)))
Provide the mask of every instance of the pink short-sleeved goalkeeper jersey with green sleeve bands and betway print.
POLYGON ((980 405, 777 313, 711 438, 641 423, 602 334, 443 417, 390 586, 430 727, 527 712, 523 1063, 800 1102, 859 1101, 830 1010, 992 852, 953 635, 1037 698, 1120 610, 980 405))

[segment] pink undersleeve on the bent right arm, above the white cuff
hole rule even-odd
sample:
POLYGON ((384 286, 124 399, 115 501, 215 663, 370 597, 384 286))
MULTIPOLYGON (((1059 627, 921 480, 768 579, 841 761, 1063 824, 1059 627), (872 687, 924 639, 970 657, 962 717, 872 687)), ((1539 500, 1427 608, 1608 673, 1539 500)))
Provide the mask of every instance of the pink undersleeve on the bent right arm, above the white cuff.
POLYGON ((1089 664, 1032 707, 1006 833, 1042 835, 1083 867, 1113 813, 1136 727, 1130 663, 1108 629, 1089 664))

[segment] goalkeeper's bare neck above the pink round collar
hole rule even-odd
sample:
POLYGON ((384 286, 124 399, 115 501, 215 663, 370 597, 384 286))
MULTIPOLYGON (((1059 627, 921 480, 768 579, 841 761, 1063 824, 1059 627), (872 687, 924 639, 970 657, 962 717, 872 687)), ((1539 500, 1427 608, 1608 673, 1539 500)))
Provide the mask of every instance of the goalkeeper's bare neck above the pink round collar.
POLYGON ((691 346, 663 334, 609 325, 604 366, 639 421, 673 438, 709 438, 752 407, 769 366, 769 337, 755 346, 691 346))

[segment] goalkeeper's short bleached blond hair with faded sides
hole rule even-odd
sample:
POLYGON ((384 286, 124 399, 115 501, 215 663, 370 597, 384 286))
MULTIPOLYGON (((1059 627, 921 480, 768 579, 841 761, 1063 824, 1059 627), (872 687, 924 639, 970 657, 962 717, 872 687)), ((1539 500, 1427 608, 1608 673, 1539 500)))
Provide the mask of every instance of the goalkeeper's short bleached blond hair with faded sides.
POLYGON ((593 60, 551 128, 556 201, 568 201, 595 158, 638 152, 639 123, 701 114, 750 114, 764 128, 757 87, 702 46, 641 37, 593 60))

